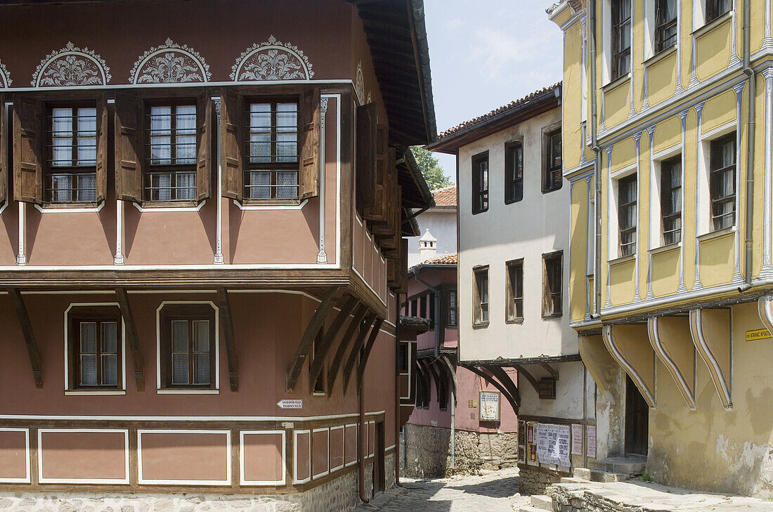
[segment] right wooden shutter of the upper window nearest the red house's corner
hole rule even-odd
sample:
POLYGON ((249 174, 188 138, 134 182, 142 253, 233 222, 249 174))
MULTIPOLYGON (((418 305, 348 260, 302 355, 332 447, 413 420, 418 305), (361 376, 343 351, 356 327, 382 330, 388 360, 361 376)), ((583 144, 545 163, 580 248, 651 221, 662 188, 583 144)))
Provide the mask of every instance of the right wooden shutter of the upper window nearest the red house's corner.
POLYGON ((319 154, 322 137, 319 105, 319 87, 301 95, 301 200, 319 194, 319 168, 325 161, 325 155, 319 154))

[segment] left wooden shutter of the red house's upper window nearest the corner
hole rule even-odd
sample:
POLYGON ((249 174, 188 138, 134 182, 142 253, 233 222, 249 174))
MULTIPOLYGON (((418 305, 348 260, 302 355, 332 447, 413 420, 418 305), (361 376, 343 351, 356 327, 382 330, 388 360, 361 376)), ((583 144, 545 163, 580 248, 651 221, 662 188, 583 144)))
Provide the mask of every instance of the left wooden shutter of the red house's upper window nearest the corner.
POLYGON ((223 197, 240 201, 244 192, 242 146, 243 99, 224 91, 220 96, 220 168, 223 172, 223 197))

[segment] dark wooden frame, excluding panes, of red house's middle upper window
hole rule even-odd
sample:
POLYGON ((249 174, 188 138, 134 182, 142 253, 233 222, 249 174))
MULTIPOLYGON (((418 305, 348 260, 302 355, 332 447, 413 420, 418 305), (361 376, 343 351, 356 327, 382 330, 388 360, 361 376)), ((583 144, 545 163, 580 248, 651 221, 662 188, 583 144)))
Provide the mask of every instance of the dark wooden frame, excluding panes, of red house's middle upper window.
POLYGON ((197 202, 196 198, 199 194, 198 188, 196 186, 196 165, 198 164, 199 159, 199 143, 198 143, 198 133, 199 133, 199 118, 202 115, 201 112, 199 112, 199 105, 198 100, 196 97, 173 97, 173 98, 145 98, 143 100, 142 105, 143 115, 145 116, 144 123, 143 123, 143 134, 142 134, 142 142, 145 144, 145 162, 142 166, 142 197, 143 201, 148 202, 151 205, 163 205, 165 203, 170 203, 174 205, 179 204, 195 204, 197 202), (169 116, 170 124, 169 124, 169 144, 170 144, 170 153, 169 153, 169 161, 175 162, 177 160, 177 113, 176 108, 177 107, 193 107, 195 109, 194 117, 196 118, 196 121, 194 122, 194 126, 192 128, 192 133, 190 134, 184 134, 188 135, 190 137, 193 137, 194 140, 196 140, 196 148, 193 151, 193 157, 192 157, 192 163, 190 164, 177 164, 177 163, 170 163, 170 164, 153 164, 153 158, 151 156, 151 146, 152 146, 152 109, 154 107, 169 107, 170 113, 169 116), (153 175, 171 175, 171 183, 169 185, 169 190, 171 191, 171 195, 174 197, 169 199, 153 199, 152 198, 152 177, 153 175), (177 186, 177 179, 179 175, 181 174, 189 174, 193 177, 193 197, 192 198, 177 198, 177 189, 179 188, 177 186))

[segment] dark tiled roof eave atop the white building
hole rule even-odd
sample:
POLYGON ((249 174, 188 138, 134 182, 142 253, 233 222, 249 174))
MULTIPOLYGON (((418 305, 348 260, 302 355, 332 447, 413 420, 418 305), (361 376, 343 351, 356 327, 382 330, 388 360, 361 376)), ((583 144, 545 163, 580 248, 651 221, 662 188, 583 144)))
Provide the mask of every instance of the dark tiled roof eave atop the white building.
POLYGON ((559 82, 503 105, 488 114, 449 128, 438 135, 438 141, 427 144, 427 149, 456 154, 461 146, 522 123, 524 120, 543 114, 560 106, 560 104, 561 83, 559 82))

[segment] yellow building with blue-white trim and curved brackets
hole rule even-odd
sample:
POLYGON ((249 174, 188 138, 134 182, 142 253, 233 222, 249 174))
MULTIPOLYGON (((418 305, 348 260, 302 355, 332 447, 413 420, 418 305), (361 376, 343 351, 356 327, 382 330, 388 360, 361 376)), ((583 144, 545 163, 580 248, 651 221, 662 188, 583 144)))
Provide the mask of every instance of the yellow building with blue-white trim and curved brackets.
POLYGON ((773 497, 771 0, 562 0, 548 15, 564 32, 570 316, 598 387, 597 458, 773 497))

